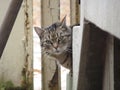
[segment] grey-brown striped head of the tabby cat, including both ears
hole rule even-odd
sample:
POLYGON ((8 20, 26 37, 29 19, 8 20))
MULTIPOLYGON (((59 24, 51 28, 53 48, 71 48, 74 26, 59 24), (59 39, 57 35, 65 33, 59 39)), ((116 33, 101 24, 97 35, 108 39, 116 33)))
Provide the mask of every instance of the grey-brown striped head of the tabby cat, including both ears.
POLYGON ((60 55, 64 52, 71 52, 71 28, 66 25, 66 17, 48 28, 35 27, 35 31, 41 40, 43 53, 60 55))

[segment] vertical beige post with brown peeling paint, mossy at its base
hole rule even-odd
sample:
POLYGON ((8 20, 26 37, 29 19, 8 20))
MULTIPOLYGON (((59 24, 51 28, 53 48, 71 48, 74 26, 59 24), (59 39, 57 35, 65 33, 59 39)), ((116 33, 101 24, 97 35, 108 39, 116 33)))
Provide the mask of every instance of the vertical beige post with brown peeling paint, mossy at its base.
MULTIPOLYGON (((30 12, 30 1, 24 0, 24 20, 25 20, 25 36, 24 36, 24 50, 25 50, 25 61, 24 61, 24 67, 22 70, 22 86, 26 87, 27 89, 33 85, 33 70, 32 70, 32 54, 29 51, 32 51, 30 47, 32 47, 32 39, 30 40, 32 34, 30 32, 32 21, 30 20, 30 15, 32 12, 30 12)), ((31 6, 32 7, 32 6, 31 6)))

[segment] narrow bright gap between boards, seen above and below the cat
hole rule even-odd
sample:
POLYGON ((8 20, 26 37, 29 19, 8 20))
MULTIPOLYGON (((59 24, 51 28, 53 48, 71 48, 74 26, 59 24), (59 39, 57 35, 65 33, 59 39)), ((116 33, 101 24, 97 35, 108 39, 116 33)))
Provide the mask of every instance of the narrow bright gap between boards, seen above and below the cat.
MULTIPOLYGON (((60 20, 66 16, 66 24, 70 25, 70 0, 60 0, 60 20)), ((67 88, 67 74, 69 70, 61 66, 61 90, 67 88)))

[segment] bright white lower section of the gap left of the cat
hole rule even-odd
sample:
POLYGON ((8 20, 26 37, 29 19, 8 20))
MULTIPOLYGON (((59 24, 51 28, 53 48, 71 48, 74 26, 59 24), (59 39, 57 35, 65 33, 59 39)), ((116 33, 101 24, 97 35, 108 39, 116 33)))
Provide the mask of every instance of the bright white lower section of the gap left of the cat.
POLYGON ((41 80, 41 47, 40 47, 40 39, 36 34, 35 30, 33 31, 33 39, 34 39, 34 90, 42 90, 42 80, 41 80))

